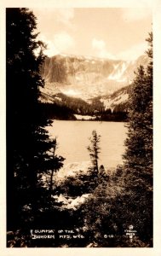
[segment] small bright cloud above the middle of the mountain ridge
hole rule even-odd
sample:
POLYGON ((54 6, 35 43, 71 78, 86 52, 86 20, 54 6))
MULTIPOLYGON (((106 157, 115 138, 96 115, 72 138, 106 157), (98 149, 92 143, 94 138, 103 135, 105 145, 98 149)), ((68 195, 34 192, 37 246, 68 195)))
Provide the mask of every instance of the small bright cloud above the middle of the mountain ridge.
POLYGON ((92 48, 95 50, 96 55, 101 58, 108 58, 108 59, 116 59, 114 55, 106 49, 106 43, 103 40, 93 39, 92 40, 92 48))

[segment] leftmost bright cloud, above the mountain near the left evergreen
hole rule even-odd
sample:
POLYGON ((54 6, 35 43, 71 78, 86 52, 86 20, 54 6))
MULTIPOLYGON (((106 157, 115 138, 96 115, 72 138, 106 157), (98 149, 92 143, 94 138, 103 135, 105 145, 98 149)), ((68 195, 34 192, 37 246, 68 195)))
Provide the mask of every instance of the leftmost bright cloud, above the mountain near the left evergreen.
POLYGON ((54 44, 60 52, 65 52, 67 49, 74 48, 75 41, 67 32, 55 34, 54 44))

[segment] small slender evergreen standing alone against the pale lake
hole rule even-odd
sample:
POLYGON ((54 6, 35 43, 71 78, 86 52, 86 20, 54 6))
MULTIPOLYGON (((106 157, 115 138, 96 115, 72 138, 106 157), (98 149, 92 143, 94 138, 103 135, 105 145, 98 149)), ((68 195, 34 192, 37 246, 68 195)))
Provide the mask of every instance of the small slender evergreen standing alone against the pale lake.
POLYGON ((100 140, 101 136, 97 134, 97 132, 94 130, 92 131, 92 137, 89 138, 90 145, 88 146, 90 159, 92 161, 93 168, 95 172, 99 172, 98 168, 98 159, 99 159, 99 153, 100 153, 100 140))

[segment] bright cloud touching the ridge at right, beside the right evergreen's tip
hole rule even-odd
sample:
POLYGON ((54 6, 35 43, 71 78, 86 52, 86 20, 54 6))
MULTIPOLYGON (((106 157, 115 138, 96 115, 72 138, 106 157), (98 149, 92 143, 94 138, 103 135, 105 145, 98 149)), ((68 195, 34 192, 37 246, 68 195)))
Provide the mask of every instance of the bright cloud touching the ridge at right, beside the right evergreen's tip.
POLYGON ((133 61, 139 56, 144 55, 147 50, 147 43, 135 44, 131 48, 120 52, 117 58, 125 61, 133 61))

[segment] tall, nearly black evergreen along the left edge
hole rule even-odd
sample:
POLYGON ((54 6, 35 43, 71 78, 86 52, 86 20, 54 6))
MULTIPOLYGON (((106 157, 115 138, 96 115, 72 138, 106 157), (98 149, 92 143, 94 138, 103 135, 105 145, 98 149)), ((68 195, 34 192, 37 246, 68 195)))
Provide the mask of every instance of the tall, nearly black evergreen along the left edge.
POLYGON ((6 9, 8 229, 20 224, 24 209, 37 218, 39 176, 51 167, 49 120, 38 102, 45 45, 37 40, 36 28, 29 9, 6 9))

